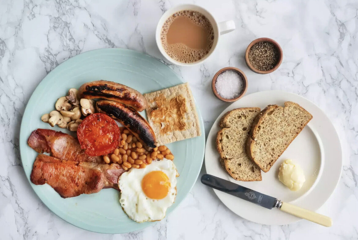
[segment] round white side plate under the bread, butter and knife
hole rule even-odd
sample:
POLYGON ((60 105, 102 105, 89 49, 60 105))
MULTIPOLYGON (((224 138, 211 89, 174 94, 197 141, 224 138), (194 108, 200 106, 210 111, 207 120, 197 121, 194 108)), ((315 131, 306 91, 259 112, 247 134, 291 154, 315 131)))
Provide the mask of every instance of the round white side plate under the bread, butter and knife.
MULTIPOLYGON (((214 122, 205 148, 205 168, 208 174, 221 177, 242 186, 262 192, 284 202, 316 211, 333 193, 342 172, 342 148, 338 134, 328 117, 309 100, 283 91, 265 91, 247 95, 227 107, 214 122), (216 133, 224 113, 234 108, 260 107, 269 104, 284 106, 291 101, 300 104, 313 116, 302 132, 281 155, 267 173, 262 171, 262 181, 242 182, 230 177, 220 166, 216 150, 216 133), (281 162, 291 158, 303 168, 306 182, 299 191, 290 191, 278 180, 281 162)), ((300 220, 277 209, 265 209, 224 192, 214 190, 219 199, 237 215, 260 224, 284 225, 300 220)))

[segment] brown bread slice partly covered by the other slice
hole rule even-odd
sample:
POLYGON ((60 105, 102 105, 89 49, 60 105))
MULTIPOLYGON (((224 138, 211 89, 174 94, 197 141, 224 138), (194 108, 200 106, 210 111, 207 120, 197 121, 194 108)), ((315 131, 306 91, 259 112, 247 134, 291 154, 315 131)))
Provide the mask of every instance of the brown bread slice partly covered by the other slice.
POLYGON ((216 147, 224 170, 239 181, 261 181, 260 168, 246 154, 246 140, 260 108, 237 108, 227 112, 219 123, 216 147))

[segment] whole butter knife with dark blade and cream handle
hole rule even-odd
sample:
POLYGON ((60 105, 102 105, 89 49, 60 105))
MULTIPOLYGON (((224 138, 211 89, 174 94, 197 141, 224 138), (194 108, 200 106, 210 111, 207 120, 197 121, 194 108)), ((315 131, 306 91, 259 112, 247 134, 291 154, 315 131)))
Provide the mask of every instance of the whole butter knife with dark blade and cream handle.
POLYGON ((262 207, 266 207, 267 209, 277 207, 281 211, 287 212, 302 219, 309 220, 311 222, 315 222, 322 226, 332 226, 332 219, 330 217, 318 214, 307 209, 303 209, 301 207, 297 207, 287 202, 282 202, 281 200, 277 200, 275 197, 262 194, 260 192, 251 190, 250 188, 240 186, 236 183, 224 180, 222 178, 215 177, 210 174, 204 174, 201 178, 201 182, 204 185, 215 188, 222 192, 226 192, 227 194, 239 197, 243 200, 252 202, 262 207))

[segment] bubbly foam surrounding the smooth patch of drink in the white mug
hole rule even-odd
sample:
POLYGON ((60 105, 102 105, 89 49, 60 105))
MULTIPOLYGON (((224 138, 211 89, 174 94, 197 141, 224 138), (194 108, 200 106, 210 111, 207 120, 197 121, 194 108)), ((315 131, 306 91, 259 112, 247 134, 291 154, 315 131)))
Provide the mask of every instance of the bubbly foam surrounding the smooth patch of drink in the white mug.
POLYGON ((165 52, 174 60, 182 63, 197 62, 209 53, 214 43, 214 29, 210 21, 197 11, 182 10, 171 15, 164 23, 160 33, 161 44, 165 52), (183 43, 168 44, 166 34, 170 24, 178 17, 184 17, 191 20, 194 24, 205 28, 208 32, 208 46, 205 49, 189 48, 183 43))

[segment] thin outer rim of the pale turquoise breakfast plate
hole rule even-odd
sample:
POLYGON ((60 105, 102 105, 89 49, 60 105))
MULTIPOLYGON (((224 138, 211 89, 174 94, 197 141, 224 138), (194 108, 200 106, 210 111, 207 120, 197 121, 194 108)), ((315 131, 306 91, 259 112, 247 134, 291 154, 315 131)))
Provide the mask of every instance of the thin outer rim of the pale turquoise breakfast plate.
MULTIPOLYGON (((138 225, 139 227, 136 227, 135 229, 133 230, 130 230, 130 231, 100 231, 100 230, 94 230, 94 229, 89 229, 89 228, 86 228, 84 226, 79 226, 76 224, 76 220, 74 222, 71 222, 70 220, 68 219, 65 219, 66 215, 68 214, 64 214, 64 211, 61 211, 61 212, 58 212, 57 209, 54 211, 53 209, 51 209, 40 197, 39 195, 37 194, 37 192, 35 191, 34 187, 37 186, 37 185, 34 185, 31 181, 30 181, 30 178, 27 176, 26 172, 25 172, 25 168, 24 168, 24 163, 23 163, 23 158, 25 158, 24 156, 24 147, 27 146, 27 138, 28 137, 25 137, 23 136, 24 134, 21 134, 24 132, 24 128, 25 128, 25 122, 28 121, 28 119, 25 119, 24 116, 25 114, 30 111, 30 109, 27 107, 28 106, 28 103, 32 100, 32 98, 34 97, 33 96, 33 93, 36 91, 36 89, 38 89, 42 84, 45 84, 44 80, 46 78, 52 78, 52 75, 56 74, 56 71, 54 72, 55 69, 59 68, 61 65, 63 65, 64 63, 68 63, 68 62, 72 62, 74 61, 73 59, 76 59, 76 57, 78 56, 84 56, 84 55, 87 55, 87 54, 92 54, 92 53, 101 53, 101 52, 106 52, 106 51, 109 51, 109 52, 114 52, 116 54, 117 51, 119 52, 130 52, 130 53, 134 53, 134 54, 142 54, 142 55, 145 55, 146 57, 149 57, 150 59, 152 60, 155 60, 155 61, 158 61, 160 64, 163 64, 165 65, 166 68, 168 68, 173 74, 175 74, 179 81, 181 83, 185 83, 183 81, 183 77, 179 76, 178 74, 176 74, 174 72, 173 69, 171 69, 167 64, 163 63, 160 59, 156 58, 156 57, 153 57, 147 53, 142 53, 142 52, 138 52, 138 51, 135 51, 135 50, 132 50, 132 49, 125 49, 125 48, 99 48, 99 49, 93 49, 93 50, 89 50, 89 51, 86 51, 86 52, 82 52, 82 53, 79 53, 77 54, 76 56, 73 56, 71 58, 68 58, 66 60, 64 60, 61 64, 57 65, 55 68, 53 68, 49 73, 47 73, 45 75, 45 77, 37 84, 36 88, 34 89, 34 91, 31 93, 31 96, 29 98, 29 100, 26 102, 26 107, 25 107, 25 110, 24 110, 24 113, 23 113, 23 116, 22 116, 22 119, 21 119, 21 123, 20 123, 20 131, 19 131, 19 151, 20 151, 20 160, 21 160, 21 166, 23 167, 23 170, 24 170, 24 174, 25 174, 25 177, 26 179, 29 181, 29 184, 34 192, 34 194, 40 199, 40 201, 47 207, 47 209, 49 209, 51 212, 53 212, 56 216, 58 216, 59 218, 61 218, 62 220, 68 222, 69 224, 73 225, 73 226, 76 226, 76 227, 79 227, 81 229, 84 229, 84 230, 87 230, 87 231, 91 231, 91 232, 98 232, 98 233, 104 233, 104 234, 122 234, 122 233, 127 233, 127 232, 132 232, 132 231, 138 231, 138 230, 142 230, 142 229, 145 229, 146 227, 149 227, 149 226, 153 226, 154 224, 160 222, 160 221, 155 221, 155 222, 149 222, 150 224, 148 224, 147 226, 143 226, 143 227, 140 227, 141 225, 138 225), (22 143, 23 141, 25 141, 26 143, 22 143), (22 144, 21 144, 22 143, 22 144), (62 216, 63 214, 63 216, 62 216)), ((58 70, 63 70, 63 69, 58 69, 58 70)), ((57 71, 58 71, 57 70, 57 71)), ((180 84, 181 84, 180 83, 180 84)), ((193 96, 194 98, 194 96, 193 96)), ((198 104, 197 104, 197 101, 195 100, 194 98, 194 103, 195 103, 195 109, 196 111, 198 112, 198 117, 199 117, 199 125, 200 125, 200 131, 201 131, 201 136, 197 136, 199 139, 202 138, 202 142, 203 142, 203 148, 202 148, 202 151, 200 152, 200 155, 202 156, 201 157, 201 161, 200 161, 200 168, 198 169, 197 173, 196 173, 196 176, 195 176, 195 181, 193 181, 191 184, 190 184, 190 187, 189 187, 189 190, 187 192, 187 194, 183 197, 182 201, 179 202, 179 204, 175 205, 174 208, 171 209, 170 212, 167 212, 166 213, 166 216, 165 218, 171 214, 171 212, 173 212, 178 206, 180 206, 182 204, 182 202, 186 199, 186 197, 188 196, 188 194, 190 193, 190 191, 193 189, 195 183, 197 182, 198 180, 198 177, 199 177, 199 174, 200 174, 200 171, 203 167, 203 162, 204 162, 204 154, 205 154, 205 146, 206 146, 206 138, 205 138, 205 128, 204 128, 204 121, 203 121, 203 117, 202 117, 202 114, 200 112, 200 109, 198 108, 198 104)), ((199 163, 198 163, 199 164, 199 163)), ((164 219, 165 219, 164 218, 164 219)), ((162 219, 162 220, 164 220, 162 219)), ((78 221, 78 220, 77 220, 78 221)), ((164 220, 165 221, 165 220, 164 220)))

